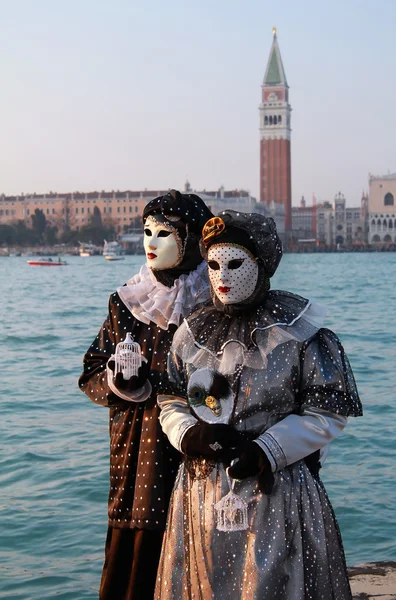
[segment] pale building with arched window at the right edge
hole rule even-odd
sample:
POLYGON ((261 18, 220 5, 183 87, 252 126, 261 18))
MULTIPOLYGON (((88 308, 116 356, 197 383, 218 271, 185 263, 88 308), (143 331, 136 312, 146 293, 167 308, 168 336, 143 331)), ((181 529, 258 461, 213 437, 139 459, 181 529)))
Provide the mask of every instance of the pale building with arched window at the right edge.
POLYGON ((370 244, 396 242, 396 173, 369 176, 368 236, 370 244))

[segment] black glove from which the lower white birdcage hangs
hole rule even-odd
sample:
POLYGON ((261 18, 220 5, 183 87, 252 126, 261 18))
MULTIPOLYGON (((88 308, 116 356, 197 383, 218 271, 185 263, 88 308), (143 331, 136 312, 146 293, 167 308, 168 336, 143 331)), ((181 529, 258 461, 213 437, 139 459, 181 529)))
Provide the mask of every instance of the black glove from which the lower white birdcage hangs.
POLYGON ((259 490, 270 494, 274 485, 271 463, 267 455, 255 442, 247 442, 239 449, 238 461, 228 468, 233 479, 246 479, 257 475, 259 490))

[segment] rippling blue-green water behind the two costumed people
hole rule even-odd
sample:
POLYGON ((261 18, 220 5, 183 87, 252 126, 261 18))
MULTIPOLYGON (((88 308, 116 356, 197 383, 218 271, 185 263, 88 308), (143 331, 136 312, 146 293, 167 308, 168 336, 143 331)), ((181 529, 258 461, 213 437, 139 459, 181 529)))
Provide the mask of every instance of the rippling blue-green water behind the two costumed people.
MULTIPOLYGON (((106 534, 108 415, 77 388, 108 296, 143 257, 0 258, 0 597, 97 598, 106 534)), ((349 565, 395 560, 396 253, 285 255, 273 288, 328 307, 364 406, 322 478, 349 565)))

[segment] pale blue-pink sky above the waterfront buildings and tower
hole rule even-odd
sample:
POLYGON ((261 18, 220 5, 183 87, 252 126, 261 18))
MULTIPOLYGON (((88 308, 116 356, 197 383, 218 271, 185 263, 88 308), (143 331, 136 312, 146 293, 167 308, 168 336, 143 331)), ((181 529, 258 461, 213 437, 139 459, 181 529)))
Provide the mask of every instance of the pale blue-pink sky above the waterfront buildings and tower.
POLYGON ((396 171, 396 0, 0 0, 0 194, 258 197, 272 26, 293 204, 396 171))

